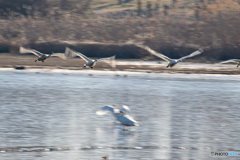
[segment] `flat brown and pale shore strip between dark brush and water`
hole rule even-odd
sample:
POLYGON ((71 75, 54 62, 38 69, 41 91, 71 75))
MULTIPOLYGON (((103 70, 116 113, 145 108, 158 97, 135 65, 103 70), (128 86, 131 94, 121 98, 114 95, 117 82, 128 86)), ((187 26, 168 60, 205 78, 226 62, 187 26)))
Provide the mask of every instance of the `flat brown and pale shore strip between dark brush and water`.
MULTIPOLYGON (((152 73, 152 74, 219 74, 219 75, 240 75, 240 67, 236 64, 219 64, 219 63, 195 63, 194 61, 179 62, 172 68, 166 68, 167 62, 143 61, 142 59, 134 60, 116 60, 116 68, 111 68, 104 62, 98 62, 93 68, 84 68, 85 62, 80 58, 63 60, 58 57, 51 57, 44 63, 34 62, 36 56, 21 54, 0 54, 1 71, 8 68, 13 70, 69 70, 75 72, 91 73, 92 71, 112 71, 126 73, 152 73)), ((119 74, 117 73, 117 74, 119 74)))

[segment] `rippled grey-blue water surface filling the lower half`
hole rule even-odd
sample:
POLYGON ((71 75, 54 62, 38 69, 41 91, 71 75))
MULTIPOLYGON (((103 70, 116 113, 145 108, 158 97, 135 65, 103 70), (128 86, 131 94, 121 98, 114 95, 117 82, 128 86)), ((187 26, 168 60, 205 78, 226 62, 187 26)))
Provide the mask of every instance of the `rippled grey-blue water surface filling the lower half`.
MULTIPOLYGON (((1 160, 215 159, 240 151, 240 76, 0 72, 1 160), (105 105, 128 105, 122 130, 105 105)), ((236 158, 236 157, 235 157, 236 158)))

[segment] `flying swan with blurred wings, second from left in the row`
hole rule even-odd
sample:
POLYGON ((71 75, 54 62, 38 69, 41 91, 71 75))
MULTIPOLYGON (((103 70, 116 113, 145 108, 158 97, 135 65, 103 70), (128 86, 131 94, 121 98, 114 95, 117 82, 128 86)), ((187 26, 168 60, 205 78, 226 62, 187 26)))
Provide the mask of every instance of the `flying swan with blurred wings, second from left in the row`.
POLYGON ((111 65, 113 68, 116 67, 116 64, 115 64, 115 56, 116 55, 114 55, 112 57, 92 60, 92 59, 88 58, 87 56, 85 56, 84 54, 82 54, 80 52, 77 52, 77 51, 74 51, 74 50, 72 50, 68 47, 66 47, 65 54, 66 54, 67 57, 71 57, 71 58, 75 57, 75 56, 79 56, 80 58, 82 58, 84 61, 87 62, 87 64, 84 64, 84 67, 88 66, 90 68, 93 68, 98 61, 105 61, 106 63, 111 65))

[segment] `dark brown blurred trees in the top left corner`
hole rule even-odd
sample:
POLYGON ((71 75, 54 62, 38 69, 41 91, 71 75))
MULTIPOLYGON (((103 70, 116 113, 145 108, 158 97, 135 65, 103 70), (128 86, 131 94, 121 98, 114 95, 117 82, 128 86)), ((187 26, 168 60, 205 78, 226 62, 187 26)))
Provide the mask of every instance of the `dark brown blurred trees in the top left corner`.
POLYGON ((64 11, 85 14, 92 0, 0 0, 0 18, 61 17, 64 11))

